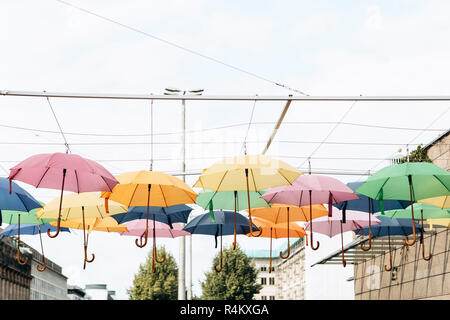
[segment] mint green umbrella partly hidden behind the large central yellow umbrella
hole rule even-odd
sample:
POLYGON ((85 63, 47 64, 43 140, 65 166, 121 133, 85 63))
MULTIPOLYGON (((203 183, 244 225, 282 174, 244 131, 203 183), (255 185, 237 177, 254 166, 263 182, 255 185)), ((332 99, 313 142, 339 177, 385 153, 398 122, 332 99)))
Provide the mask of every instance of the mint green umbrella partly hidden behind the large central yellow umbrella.
MULTIPOLYGON (((198 194, 197 204, 203 209, 209 209, 210 216, 214 219, 212 214, 214 209, 234 210, 235 215, 238 211, 248 210, 249 203, 253 208, 269 207, 269 204, 261 198, 265 190, 251 191, 248 193, 250 201, 247 199, 246 191, 203 191, 198 194)), ((235 219, 236 223, 236 219, 235 219)), ((235 225, 236 230, 236 225, 235 225)), ((236 249, 236 232, 234 233, 233 250, 236 249)))

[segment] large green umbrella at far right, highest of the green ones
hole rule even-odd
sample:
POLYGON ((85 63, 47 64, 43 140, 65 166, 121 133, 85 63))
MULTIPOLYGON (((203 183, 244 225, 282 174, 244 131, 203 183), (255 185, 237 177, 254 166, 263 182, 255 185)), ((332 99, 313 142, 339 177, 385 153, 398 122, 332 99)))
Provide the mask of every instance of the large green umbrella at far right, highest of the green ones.
MULTIPOLYGON (((383 213, 384 199, 409 200, 412 205, 418 200, 450 195, 450 172, 427 162, 396 164, 377 171, 356 192, 381 200, 383 213)), ((413 210, 411 219, 414 219, 413 210)), ((412 224, 412 227, 415 228, 415 225, 412 224)), ((415 232, 412 242, 405 237, 408 246, 415 242, 415 232)))

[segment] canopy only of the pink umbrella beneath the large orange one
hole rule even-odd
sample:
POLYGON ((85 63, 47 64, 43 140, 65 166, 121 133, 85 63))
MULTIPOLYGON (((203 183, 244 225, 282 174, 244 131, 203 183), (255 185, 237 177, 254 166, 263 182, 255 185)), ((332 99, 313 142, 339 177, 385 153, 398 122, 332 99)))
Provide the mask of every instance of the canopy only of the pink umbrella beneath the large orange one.
MULTIPOLYGON (((120 235, 140 237, 145 232, 145 219, 126 222, 125 226, 128 231, 121 232, 120 235)), ((174 223, 172 228, 170 228, 167 224, 159 221, 155 222, 155 233, 158 238, 176 238, 190 235, 189 232, 183 230, 182 223, 174 223)))

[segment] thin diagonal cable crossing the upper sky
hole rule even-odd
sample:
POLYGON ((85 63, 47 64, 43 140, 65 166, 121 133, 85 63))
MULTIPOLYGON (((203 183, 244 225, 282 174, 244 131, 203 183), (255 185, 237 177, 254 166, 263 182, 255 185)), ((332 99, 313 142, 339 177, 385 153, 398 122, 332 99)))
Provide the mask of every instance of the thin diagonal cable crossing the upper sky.
POLYGON ((176 44, 176 43, 174 43, 174 42, 172 42, 172 41, 165 40, 165 39, 163 39, 163 38, 161 38, 161 37, 157 37, 157 36, 152 35, 152 34, 150 34, 150 33, 148 33, 148 32, 145 32, 145 31, 142 31, 142 30, 137 29, 137 28, 135 28, 135 27, 132 27, 132 26, 126 25, 126 24, 124 24, 124 23, 118 22, 118 21, 116 21, 116 20, 113 20, 113 19, 111 19, 111 18, 105 17, 105 16, 100 15, 100 14, 98 14, 98 13, 95 13, 95 12, 93 12, 93 11, 90 11, 90 10, 87 10, 87 9, 84 9, 84 8, 81 8, 81 7, 78 7, 78 6, 73 5, 73 4, 71 4, 71 3, 67 2, 67 1, 63 1, 63 0, 55 0, 55 1, 57 1, 57 2, 59 2, 59 3, 62 3, 62 4, 64 4, 64 5, 66 5, 66 6, 75 8, 75 9, 77 9, 77 10, 79 10, 79 11, 84 12, 84 13, 87 13, 87 14, 90 14, 90 15, 92 15, 92 16, 95 16, 95 17, 97 17, 97 18, 100 18, 100 19, 103 19, 103 20, 105 20, 105 21, 111 22, 111 23, 116 24, 116 25, 118 25, 118 26, 121 26, 121 27, 123 27, 123 28, 126 28, 126 29, 129 29, 129 30, 131 30, 131 31, 140 33, 140 34, 142 34, 142 35, 144 35, 144 36, 147 36, 147 37, 149 37, 149 38, 152 38, 152 39, 161 41, 161 42, 163 42, 163 43, 165 43, 165 44, 168 44, 168 45, 170 45, 170 46, 172 46, 172 47, 175 47, 175 48, 178 48, 178 49, 180 49, 180 50, 186 51, 186 52, 188 52, 188 53, 197 55, 197 56, 199 56, 199 57, 202 57, 202 58, 204 58, 204 59, 210 60, 210 61, 212 61, 212 62, 219 63, 219 64, 221 64, 221 65, 223 65, 223 66, 226 66, 226 67, 228 67, 228 68, 231 68, 231 69, 233 69, 233 70, 235 70, 235 71, 239 71, 239 72, 241 72, 241 73, 245 73, 245 74, 247 74, 247 75, 249 75, 249 76, 252 76, 252 77, 254 77, 254 78, 256 78, 256 79, 259 79, 259 80, 262 80, 262 81, 265 81, 265 82, 274 84, 274 85, 276 85, 276 86, 278 86, 278 87, 287 89, 287 90, 289 90, 289 91, 294 91, 294 92, 297 92, 297 93, 299 93, 299 94, 301 94, 301 95, 307 96, 306 93, 304 93, 304 92, 302 92, 302 91, 300 91, 300 90, 298 90, 298 89, 291 88, 291 87, 289 87, 289 86, 287 86, 287 85, 284 85, 284 84, 282 84, 282 83, 279 83, 279 82, 270 80, 270 79, 268 79, 268 78, 266 78, 266 77, 263 77, 263 76, 261 76, 261 75, 258 75, 258 74, 256 74, 256 73, 254 73, 254 72, 250 72, 250 71, 244 70, 244 69, 242 69, 242 68, 233 66, 233 65, 231 65, 231 64, 229 64, 229 63, 223 62, 223 61, 218 60, 218 59, 216 59, 216 58, 213 58, 213 57, 211 57, 211 56, 207 56, 207 55, 205 55, 205 54, 199 53, 199 52, 194 51, 194 50, 192 50, 192 49, 186 48, 186 47, 181 46, 181 45, 179 45, 179 44, 176 44))

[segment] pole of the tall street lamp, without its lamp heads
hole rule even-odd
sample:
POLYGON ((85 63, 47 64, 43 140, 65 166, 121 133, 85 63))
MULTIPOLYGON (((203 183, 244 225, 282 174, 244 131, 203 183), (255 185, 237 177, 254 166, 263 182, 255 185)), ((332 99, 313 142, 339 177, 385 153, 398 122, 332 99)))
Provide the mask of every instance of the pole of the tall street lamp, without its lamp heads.
MULTIPOLYGON (((183 95, 186 91, 183 92, 183 95)), ((181 100, 181 127, 183 134, 181 135, 181 158, 183 159, 181 170, 186 171, 186 150, 185 150, 185 131, 186 131, 186 104, 185 100, 181 100)), ((183 181, 186 182, 186 176, 183 175, 183 181)), ((178 268, 178 300, 186 300, 186 241, 185 237, 179 237, 179 260, 180 266, 178 268)))

